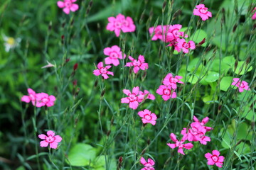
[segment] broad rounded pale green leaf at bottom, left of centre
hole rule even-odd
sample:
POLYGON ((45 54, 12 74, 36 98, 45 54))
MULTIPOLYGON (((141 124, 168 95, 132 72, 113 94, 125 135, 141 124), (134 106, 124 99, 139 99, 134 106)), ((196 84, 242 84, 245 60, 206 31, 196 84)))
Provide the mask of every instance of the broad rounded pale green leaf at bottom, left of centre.
POLYGON ((68 164, 71 166, 87 166, 96 157, 96 149, 90 145, 79 143, 70 149, 68 164))

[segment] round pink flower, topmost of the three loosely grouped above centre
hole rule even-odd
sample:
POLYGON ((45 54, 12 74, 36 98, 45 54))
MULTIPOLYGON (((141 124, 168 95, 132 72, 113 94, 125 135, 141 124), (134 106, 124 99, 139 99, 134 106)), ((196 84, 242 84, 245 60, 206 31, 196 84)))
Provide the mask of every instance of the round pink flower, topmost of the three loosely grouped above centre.
POLYGON ((104 55, 109 56, 105 58, 105 63, 114 64, 114 66, 119 65, 118 59, 124 59, 126 57, 125 54, 122 55, 122 52, 117 45, 114 45, 112 47, 106 47, 103 52, 104 55))

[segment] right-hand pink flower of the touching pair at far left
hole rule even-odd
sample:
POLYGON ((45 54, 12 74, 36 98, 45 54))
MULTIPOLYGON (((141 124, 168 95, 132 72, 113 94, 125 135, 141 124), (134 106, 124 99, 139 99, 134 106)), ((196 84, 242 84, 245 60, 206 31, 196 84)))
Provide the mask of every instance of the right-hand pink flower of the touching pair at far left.
POLYGON ((36 94, 36 107, 40 108, 42 106, 51 107, 54 105, 54 101, 56 100, 55 96, 48 95, 46 93, 36 94))

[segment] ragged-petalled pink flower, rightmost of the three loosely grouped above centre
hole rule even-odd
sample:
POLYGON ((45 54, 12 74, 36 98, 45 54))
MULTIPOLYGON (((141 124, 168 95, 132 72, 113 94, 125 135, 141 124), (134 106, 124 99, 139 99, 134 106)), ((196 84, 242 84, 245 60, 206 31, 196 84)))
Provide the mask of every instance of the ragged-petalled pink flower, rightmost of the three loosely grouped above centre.
POLYGON ((134 73, 137 74, 139 69, 145 70, 149 68, 149 65, 145 63, 145 59, 143 55, 139 55, 138 60, 135 60, 133 57, 129 56, 129 60, 132 62, 127 62, 126 67, 134 67, 134 73))

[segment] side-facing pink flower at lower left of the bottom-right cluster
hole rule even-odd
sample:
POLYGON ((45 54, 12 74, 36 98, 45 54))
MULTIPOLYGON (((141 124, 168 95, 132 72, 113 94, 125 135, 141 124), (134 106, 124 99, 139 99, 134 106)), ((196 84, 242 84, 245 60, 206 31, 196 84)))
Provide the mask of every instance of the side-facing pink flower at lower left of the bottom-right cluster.
POLYGON ((175 147, 178 147, 178 153, 184 154, 183 148, 191 149, 193 147, 192 143, 183 144, 183 142, 186 141, 186 137, 184 137, 184 136, 182 137, 181 141, 177 140, 176 135, 174 135, 174 133, 171 133, 170 137, 171 137, 171 140, 175 142, 175 144, 167 143, 167 145, 169 147, 171 147, 171 149, 174 149, 175 147))

